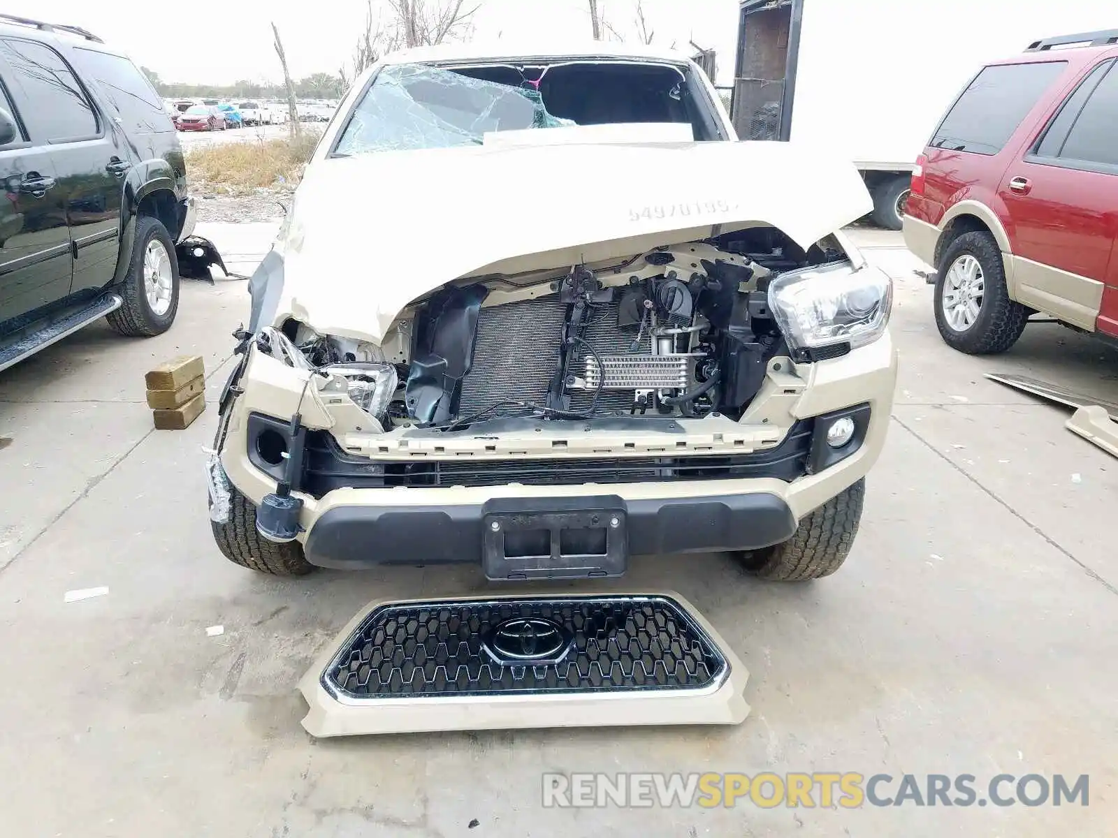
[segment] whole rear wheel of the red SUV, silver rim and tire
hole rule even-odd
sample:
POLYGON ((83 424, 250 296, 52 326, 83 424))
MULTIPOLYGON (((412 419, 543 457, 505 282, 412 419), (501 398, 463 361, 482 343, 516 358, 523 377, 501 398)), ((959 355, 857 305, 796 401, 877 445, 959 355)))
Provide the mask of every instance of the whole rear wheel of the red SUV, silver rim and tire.
POLYGON ((936 326, 948 346, 989 355, 1017 342, 1030 311, 1010 298, 1005 263, 991 234, 963 234, 937 268, 936 326))

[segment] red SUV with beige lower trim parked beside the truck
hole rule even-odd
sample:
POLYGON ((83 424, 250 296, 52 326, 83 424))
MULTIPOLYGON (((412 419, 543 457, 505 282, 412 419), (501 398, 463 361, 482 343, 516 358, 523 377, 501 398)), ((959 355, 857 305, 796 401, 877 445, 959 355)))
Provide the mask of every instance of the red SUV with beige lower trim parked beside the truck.
POLYGON ((1118 337, 1118 30, 984 67, 917 162, 904 242, 948 345, 1003 352, 1036 312, 1118 337))

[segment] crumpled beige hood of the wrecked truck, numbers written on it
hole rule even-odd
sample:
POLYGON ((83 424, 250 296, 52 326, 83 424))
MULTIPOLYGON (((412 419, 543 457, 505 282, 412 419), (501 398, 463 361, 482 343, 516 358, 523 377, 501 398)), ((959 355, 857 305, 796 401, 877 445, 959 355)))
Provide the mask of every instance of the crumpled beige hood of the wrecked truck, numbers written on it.
POLYGON ((719 225, 771 225, 806 248, 871 209, 853 164, 793 143, 481 145, 321 160, 276 242, 275 320, 379 343, 409 302, 458 277, 628 256, 717 235, 719 225))

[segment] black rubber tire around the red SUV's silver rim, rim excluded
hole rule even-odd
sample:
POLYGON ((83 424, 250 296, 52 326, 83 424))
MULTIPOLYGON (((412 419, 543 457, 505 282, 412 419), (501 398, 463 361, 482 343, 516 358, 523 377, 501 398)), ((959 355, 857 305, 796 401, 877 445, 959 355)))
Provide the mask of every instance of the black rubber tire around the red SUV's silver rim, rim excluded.
POLYGON ((1010 299, 1005 284, 1005 263, 997 240, 989 232, 965 232, 944 251, 936 266, 936 327, 944 342, 968 355, 991 355, 1005 352, 1025 331, 1030 310, 1010 299), (948 323, 944 311, 945 287, 948 273, 964 256, 972 256, 982 268, 983 292, 978 316, 969 326, 957 330, 948 323))

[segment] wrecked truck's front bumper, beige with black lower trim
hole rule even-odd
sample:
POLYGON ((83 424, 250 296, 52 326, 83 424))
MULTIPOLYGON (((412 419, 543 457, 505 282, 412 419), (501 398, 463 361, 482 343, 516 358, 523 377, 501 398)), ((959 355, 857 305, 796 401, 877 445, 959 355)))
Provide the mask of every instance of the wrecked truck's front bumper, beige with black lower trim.
MULTIPOLYGON (((634 555, 749 550, 778 543, 792 535, 800 518, 864 477, 877 461, 892 409, 897 352, 887 332, 842 358, 795 365, 787 359, 779 361, 784 371, 774 372, 774 366, 781 368, 770 365, 769 380, 742 417, 741 427, 771 430, 779 442, 804 420, 862 406, 868 409, 868 426, 850 456, 815 473, 805 469, 794 479, 735 476, 575 485, 341 486, 318 497, 299 495, 303 507, 297 537, 307 560, 323 566, 477 562, 482 514, 490 501, 609 495, 627 511, 628 552, 634 555)), ((280 362, 253 354, 238 382, 241 393, 229 408, 221 463, 233 485, 255 504, 275 491, 276 480, 250 461, 248 431, 254 413, 286 419, 299 409, 307 427, 330 428, 350 442, 350 450, 360 439, 345 435, 341 419, 331 427, 316 399, 302 398, 304 380, 280 362)), ((437 459, 438 455, 435 450, 423 455, 428 457, 437 459)))

